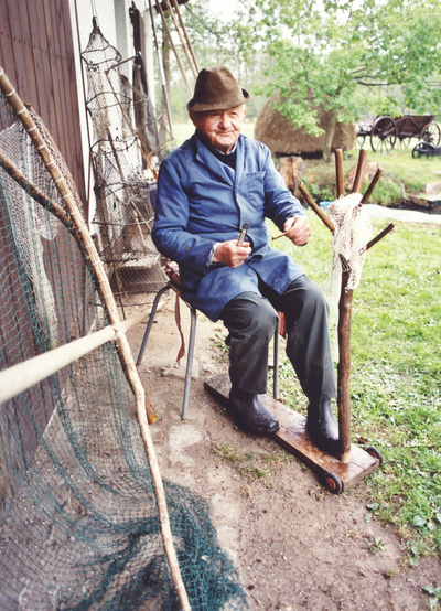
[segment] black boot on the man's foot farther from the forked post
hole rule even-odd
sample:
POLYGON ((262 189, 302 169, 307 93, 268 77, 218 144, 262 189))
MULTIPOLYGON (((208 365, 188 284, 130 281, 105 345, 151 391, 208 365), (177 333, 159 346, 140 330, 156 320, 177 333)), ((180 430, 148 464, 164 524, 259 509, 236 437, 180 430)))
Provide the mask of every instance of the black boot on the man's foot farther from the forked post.
POLYGON ((249 432, 268 433, 279 430, 279 420, 267 409, 259 395, 233 387, 229 401, 241 428, 249 432))

